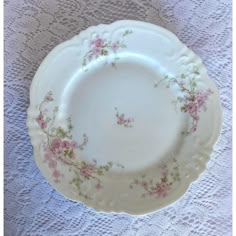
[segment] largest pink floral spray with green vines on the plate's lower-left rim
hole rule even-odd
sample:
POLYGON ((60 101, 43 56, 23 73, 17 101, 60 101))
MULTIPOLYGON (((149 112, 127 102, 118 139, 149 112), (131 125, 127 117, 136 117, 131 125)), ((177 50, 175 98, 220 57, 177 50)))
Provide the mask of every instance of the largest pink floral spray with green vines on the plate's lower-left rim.
POLYGON ((75 177, 70 181, 78 189, 78 194, 85 199, 91 197, 84 194, 81 190, 81 184, 91 181, 96 190, 100 190, 103 186, 100 177, 109 172, 116 165, 120 168, 124 166, 108 162, 106 165, 97 165, 97 161, 87 163, 79 158, 78 151, 83 151, 88 143, 88 137, 83 134, 83 141, 78 144, 72 137, 71 118, 67 119, 66 126, 55 126, 55 118, 58 107, 54 107, 52 115, 49 114, 47 106, 54 101, 52 92, 48 92, 43 101, 37 106, 39 113, 35 121, 40 130, 45 134, 46 140, 43 142, 44 162, 52 171, 52 178, 56 183, 60 182, 64 174, 59 170, 58 164, 69 167, 69 171, 73 171, 75 177))

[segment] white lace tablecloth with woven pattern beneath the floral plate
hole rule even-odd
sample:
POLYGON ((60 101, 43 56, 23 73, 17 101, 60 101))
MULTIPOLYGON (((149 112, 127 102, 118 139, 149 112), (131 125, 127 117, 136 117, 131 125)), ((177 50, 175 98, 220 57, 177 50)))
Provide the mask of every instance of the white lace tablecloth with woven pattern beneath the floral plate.
POLYGON ((231 235, 231 1, 5 0, 5 235, 231 235), (26 128, 29 86, 57 44, 120 19, 163 26, 202 57, 219 88, 223 128, 207 170, 175 204, 133 217, 99 214, 42 177, 26 128))

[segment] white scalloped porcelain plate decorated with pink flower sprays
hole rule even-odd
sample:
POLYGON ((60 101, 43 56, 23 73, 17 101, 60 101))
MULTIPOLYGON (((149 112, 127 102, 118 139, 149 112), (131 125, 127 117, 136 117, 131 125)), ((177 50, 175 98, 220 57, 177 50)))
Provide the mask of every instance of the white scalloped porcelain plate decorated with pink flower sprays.
POLYGON ((221 116, 198 56, 161 27, 118 21, 53 49, 33 79, 27 123, 56 190, 99 211, 144 214, 205 169, 221 116))

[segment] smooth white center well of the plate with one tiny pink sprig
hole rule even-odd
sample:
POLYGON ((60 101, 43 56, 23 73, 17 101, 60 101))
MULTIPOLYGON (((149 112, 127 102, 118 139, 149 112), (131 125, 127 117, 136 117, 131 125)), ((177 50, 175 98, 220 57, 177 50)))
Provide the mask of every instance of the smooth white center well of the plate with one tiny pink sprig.
POLYGON ((74 139, 88 136, 82 159, 138 171, 175 152, 185 122, 172 104, 174 90, 154 87, 159 71, 151 61, 128 57, 113 66, 98 61, 71 80, 66 113, 74 139))

